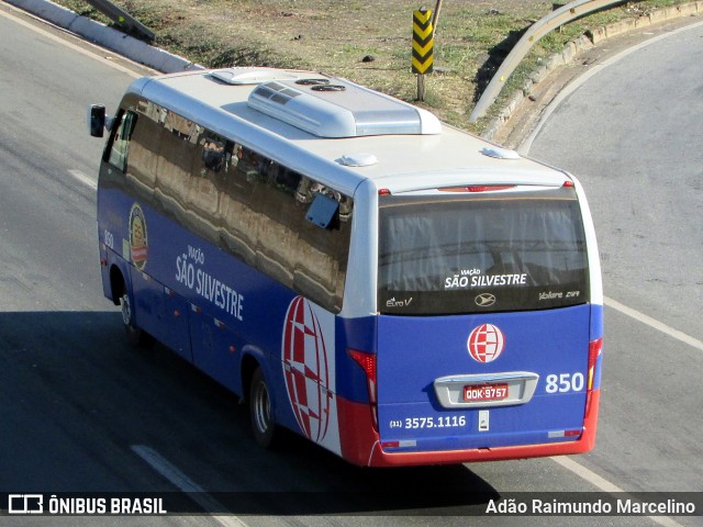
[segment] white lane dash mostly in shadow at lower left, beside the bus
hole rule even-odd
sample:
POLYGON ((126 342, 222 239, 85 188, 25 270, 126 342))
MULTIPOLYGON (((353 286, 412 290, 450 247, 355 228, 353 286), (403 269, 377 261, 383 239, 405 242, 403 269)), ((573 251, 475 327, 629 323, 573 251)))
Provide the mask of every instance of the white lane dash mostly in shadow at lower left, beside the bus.
POLYGON ((130 448, 178 490, 188 494, 188 497, 200 505, 203 511, 211 514, 210 517, 216 523, 223 527, 247 527, 247 524, 237 516, 217 514, 226 511, 226 508, 156 450, 144 445, 132 445, 130 448))

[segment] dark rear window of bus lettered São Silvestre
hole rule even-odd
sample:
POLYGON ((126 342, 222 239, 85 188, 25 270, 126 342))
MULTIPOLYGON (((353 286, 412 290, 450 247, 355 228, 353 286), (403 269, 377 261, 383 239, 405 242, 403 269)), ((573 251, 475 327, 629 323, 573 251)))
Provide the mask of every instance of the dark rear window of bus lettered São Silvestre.
POLYGON ((380 313, 576 305, 589 301, 588 277, 573 189, 380 198, 380 313))

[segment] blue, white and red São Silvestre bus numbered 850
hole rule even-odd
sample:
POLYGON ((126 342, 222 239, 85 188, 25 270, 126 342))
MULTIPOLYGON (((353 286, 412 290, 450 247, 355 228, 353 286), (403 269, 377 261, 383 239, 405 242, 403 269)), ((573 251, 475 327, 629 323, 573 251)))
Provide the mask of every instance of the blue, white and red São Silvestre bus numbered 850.
MULTIPOLYGON (((91 108, 102 136, 104 106, 91 108)), ((102 157, 104 294, 352 463, 584 452, 603 294, 579 181, 317 72, 142 78, 102 157)))

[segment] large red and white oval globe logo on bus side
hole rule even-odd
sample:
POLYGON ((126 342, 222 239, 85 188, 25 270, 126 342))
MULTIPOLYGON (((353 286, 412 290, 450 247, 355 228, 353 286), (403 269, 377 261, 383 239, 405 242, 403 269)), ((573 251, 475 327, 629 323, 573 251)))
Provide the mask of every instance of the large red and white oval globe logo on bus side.
POLYGON ((288 306, 281 348, 286 389, 295 421, 309 439, 320 442, 330 424, 327 348, 317 315, 302 296, 288 306))

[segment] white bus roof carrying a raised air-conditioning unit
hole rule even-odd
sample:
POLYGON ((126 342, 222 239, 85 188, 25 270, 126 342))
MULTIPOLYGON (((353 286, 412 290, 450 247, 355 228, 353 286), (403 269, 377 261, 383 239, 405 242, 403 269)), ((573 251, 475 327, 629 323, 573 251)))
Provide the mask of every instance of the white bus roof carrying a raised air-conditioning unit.
POLYGON ((565 172, 429 112, 323 74, 228 68, 136 80, 127 90, 348 195, 476 183, 561 186, 565 172))

